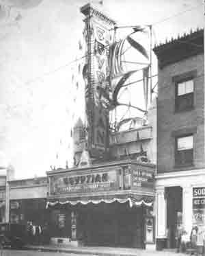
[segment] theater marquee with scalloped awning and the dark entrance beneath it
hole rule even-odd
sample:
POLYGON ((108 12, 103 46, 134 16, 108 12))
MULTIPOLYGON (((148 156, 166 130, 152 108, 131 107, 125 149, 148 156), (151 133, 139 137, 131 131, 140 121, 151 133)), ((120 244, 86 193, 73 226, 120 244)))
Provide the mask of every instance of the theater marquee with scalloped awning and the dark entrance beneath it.
POLYGON ((120 161, 48 176, 53 242, 137 248, 154 242, 154 165, 120 161))

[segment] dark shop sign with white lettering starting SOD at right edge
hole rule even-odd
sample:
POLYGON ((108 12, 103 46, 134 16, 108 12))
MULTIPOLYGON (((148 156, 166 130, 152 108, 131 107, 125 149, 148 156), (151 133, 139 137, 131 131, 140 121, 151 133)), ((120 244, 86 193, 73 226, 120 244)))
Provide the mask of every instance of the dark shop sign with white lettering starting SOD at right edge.
POLYGON ((193 187, 193 224, 205 224, 205 187, 193 187))

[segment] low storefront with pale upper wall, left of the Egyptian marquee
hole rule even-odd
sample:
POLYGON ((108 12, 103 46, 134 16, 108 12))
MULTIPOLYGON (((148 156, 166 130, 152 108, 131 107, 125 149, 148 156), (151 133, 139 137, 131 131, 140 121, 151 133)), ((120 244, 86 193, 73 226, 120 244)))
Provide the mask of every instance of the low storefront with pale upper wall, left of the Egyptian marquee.
POLYGON ((44 226, 47 222, 47 178, 28 178, 9 182, 10 222, 44 226))

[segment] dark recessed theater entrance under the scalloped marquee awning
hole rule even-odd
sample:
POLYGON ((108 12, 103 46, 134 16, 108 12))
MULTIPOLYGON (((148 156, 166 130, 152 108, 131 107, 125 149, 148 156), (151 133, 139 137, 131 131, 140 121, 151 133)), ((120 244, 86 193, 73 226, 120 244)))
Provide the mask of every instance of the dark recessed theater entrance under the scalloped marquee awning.
POLYGON ((77 238, 90 246, 144 248, 145 210, 118 202, 79 207, 77 238))

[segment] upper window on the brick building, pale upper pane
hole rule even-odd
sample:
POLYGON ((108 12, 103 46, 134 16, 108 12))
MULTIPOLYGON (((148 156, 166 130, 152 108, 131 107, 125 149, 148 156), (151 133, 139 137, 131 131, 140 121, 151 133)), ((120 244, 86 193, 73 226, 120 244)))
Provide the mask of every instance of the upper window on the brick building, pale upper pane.
POLYGON ((176 84, 176 111, 193 108, 193 79, 176 84))

